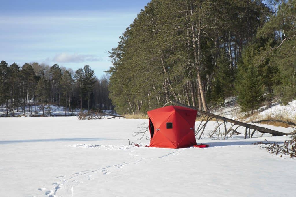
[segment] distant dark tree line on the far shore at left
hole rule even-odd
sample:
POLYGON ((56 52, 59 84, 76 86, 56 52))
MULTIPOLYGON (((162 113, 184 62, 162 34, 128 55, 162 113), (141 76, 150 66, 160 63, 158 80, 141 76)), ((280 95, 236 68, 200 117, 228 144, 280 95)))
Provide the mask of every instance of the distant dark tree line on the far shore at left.
POLYGON ((0 63, 0 103, 6 105, 6 115, 15 111, 33 113, 33 106, 55 104, 65 106, 65 114, 76 108, 113 110, 108 98, 109 77, 97 79, 89 65, 76 70, 57 64, 48 66, 25 63, 21 68, 16 63, 0 63), (27 106, 27 108, 26 108, 27 106))

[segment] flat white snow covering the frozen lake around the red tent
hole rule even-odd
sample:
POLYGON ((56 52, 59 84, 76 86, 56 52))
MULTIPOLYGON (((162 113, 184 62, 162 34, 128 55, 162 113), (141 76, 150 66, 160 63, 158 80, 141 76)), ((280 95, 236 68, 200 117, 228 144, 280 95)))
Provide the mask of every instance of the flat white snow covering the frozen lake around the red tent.
MULTIPOLYGON (((205 149, 130 146, 128 139, 149 144, 132 137, 146 122, 78 121, 73 116, 0 118, 0 196, 293 196, 296 192, 296 160, 252 145, 264 139, 282 142, 288 136, 205 138, 198 141, 210 144, 205 149)), ((214 126, 212 122, 206 130, 214 126)))

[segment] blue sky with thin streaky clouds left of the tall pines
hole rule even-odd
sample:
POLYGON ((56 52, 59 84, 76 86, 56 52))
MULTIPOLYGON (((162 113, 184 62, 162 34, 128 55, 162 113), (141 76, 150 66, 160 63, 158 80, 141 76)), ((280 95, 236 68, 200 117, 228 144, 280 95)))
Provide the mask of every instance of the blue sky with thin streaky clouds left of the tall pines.
POLYGON ((89 64, 97 77, 148 0, 18 0, 1 2, 0 61, 45 63, 74 71, 89 64))

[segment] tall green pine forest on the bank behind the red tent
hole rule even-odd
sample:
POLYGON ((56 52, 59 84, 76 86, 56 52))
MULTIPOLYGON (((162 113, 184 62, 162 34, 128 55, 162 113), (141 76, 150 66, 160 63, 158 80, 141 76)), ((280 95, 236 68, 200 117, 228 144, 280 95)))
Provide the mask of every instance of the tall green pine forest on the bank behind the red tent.
POLYGON ((296 1, 152 0, 110 51, 118 113, 174 100, 208 111, 237 96, 242 111, 295 99, 296 1))

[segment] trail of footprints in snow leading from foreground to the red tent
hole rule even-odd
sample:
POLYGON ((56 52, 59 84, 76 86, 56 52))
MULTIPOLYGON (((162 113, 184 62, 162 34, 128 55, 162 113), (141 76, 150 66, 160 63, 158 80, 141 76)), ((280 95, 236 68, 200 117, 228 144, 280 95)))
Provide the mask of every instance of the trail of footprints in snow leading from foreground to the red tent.
MULTIPOLYGON (((175 154, 179 154, 178 149, 174 150, 173 152, 171 152, 169 154, 158 157, 158 158, 164 158, 164 157, 168 157, 170 155, 175 155, 175 154)), ((138 155, 134 154, 134 151, 131 151, 131 153, 129 153, 129 155, 131 155, 132 158, 138 157, 138 155)), ((148 159, 155 159, 155 158, 148 158, 148 159)), ((89 173, 101 172, 102 175, 107 175, 107 174, 112 173, 112 171, 118 170, 128 164, 131 164, 131 163, 138 164, 139 162, 144 161, 144 160, 146 160, 146 158, 141 158, 141 159, 135 160, 135 161, 123 162, 123 163, 117 164, 117 165, 108 165, 106 167, 99 168, 96 170, 84 170, 81 172, 75 172, 69 178, 66 178, 66 175, 61 175, 61 176, 57 177, 57 178, 59 178, 59 180, 61 182, 53 183, 52 185, 54 186, 54 188, 52 190, 46 191, 46 188, 38 188, 38 190, 45 191, 44 194, 47 195, 48 197, 57 197, 57 191, 59 189, 65 190, 66 193, 71 192, 72 196, 73 196, 73 185, 81 184, 81 183, 83 183, 83 180, 86 180, 86 181, 87 180, 94 180, 92 175, 89 175, 89 173)), ((64 196, 64 195, 62 195, 62 196, 64 196)), ((67 196, 69 196, 69 195, 67 195, 67 196)))

